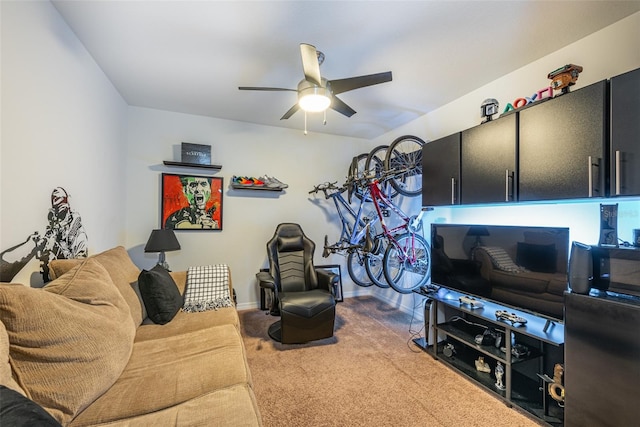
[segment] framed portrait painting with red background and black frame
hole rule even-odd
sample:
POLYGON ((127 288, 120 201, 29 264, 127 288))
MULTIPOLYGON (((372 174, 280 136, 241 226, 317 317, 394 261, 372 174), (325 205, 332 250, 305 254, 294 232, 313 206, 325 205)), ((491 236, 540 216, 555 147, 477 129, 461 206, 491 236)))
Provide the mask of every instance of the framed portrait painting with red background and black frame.
POLYGON ((161 227, 222 230, 222 178, 162 174, 161 227))

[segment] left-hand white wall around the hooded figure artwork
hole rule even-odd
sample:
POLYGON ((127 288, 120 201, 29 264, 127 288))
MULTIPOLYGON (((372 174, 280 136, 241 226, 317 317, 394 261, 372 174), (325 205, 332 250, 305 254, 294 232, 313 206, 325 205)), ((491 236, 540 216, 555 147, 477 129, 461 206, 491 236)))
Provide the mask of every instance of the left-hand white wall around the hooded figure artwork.
MULTIPOLYGON (((90 253, 122 243, 124 100, 49 2, 2 1, 0 11, 0 248, 44 232, 57 186, 83 218, 90 253)), ((14 281, 38 285, 38 271, 32 260, 14 281)))

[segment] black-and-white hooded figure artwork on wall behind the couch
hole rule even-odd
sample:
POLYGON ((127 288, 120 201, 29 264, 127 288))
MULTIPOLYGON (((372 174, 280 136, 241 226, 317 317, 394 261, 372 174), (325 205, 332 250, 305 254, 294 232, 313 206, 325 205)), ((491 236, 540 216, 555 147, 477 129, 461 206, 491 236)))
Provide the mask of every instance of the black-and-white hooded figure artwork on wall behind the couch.
POLYGON ((44 233, 34 232, 26 240, 0 252, 0 281, 10 282, 34 257, 40 260, 42 278, 49 281, 49 261, 86 258, 87 233, 80 214, 71 210, 69 194, 62 187, 51 193, 51 208, 44 233), (32 242, 33 247, 28 243, 32 242))

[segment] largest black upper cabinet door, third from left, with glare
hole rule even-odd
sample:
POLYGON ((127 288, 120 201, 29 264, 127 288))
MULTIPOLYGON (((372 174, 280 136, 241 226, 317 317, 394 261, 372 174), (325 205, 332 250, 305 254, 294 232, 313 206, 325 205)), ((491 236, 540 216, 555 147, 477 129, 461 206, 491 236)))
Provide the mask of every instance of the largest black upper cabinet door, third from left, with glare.
POLYGON ((522 110, 520 201, 604 197, 607 82, 522 110))

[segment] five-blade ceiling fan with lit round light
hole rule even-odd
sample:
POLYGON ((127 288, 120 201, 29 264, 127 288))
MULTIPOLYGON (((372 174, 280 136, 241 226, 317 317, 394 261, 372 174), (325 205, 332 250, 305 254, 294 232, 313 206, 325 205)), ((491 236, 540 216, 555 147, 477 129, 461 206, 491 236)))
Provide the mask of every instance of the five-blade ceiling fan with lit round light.
POLYGON ((336 95, 361 87, 391 81, 391 71, 366 76, 349 77, 346 79, 327 80, 320 75, 320 64, 324 61, 324 54, 322 52, 317 51, 315 46, 301 43, 300 54, 302 56, 304 79, 298 83, 297 89, 253 86, 240 86, 238 89, 297 92, 298 102, 291 107, 289 111, 284 113, 280 120, 288 119, 299 109, 302 109, 306 113, 326 111, 329 107, 347 117, 351 117, 356 111, 336 95))

